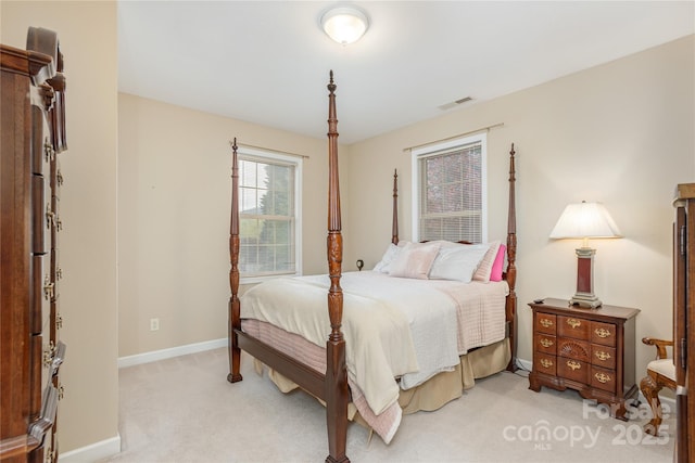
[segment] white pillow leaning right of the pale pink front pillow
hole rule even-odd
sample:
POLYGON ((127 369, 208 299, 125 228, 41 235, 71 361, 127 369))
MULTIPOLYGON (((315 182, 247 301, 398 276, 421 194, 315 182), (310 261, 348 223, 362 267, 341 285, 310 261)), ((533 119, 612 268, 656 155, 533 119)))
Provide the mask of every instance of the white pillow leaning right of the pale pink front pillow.
POLYGON ((432 263, 430 279, 470 283, 473 272, 489 249, 490 244, 458 244, 441 247, 432 263))

